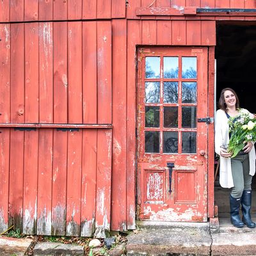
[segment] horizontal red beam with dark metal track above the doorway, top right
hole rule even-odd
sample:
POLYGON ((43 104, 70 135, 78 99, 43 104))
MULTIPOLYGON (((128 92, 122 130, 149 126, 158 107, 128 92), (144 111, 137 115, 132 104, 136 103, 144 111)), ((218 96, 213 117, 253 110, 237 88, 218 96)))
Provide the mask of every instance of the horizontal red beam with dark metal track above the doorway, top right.
POLYGON ((196 8, 195 6, 184 8, 136 8, 137 16, 255 16, 256 9, 241 9, 241 8, 196 8))

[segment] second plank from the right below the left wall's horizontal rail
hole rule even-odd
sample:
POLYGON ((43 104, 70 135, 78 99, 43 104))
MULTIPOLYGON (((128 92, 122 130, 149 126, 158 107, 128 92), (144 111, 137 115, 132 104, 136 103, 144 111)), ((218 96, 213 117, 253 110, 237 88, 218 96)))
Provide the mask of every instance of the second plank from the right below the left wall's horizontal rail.
POLYGON ((81 236, 91 237, 95 231, 97 180, 97 129, 83 130, 81 183, 81 236))

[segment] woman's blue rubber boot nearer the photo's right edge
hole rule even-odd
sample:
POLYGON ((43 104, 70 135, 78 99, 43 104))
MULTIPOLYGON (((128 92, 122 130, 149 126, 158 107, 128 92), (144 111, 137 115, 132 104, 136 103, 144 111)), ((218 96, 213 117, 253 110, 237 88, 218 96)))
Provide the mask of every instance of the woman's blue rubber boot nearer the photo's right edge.
POLYGON ((242 199, 242 212, 243 212, 243 222, 248 228, 255 228, 255 223, 251 219, 251 205, 252 205, 252 190, 244 190, 242 199))

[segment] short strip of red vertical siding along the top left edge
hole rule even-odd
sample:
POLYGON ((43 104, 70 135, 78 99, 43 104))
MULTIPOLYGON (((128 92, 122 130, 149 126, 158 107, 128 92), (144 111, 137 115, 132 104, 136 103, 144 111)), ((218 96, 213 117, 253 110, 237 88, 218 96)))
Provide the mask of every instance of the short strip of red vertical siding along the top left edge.
POLYGON ((125 0, 2 0, 0 22, 125 18, 125 0))

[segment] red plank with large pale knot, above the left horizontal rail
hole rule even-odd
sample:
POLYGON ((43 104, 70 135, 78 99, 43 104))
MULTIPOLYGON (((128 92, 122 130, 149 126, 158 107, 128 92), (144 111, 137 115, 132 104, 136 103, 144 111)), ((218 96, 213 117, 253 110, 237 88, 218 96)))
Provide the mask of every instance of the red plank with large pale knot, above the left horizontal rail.
POLYGON ((54 69, 54 123, 67 123, 67 22, 54 22, 53 24, 53 69, 54 69))

